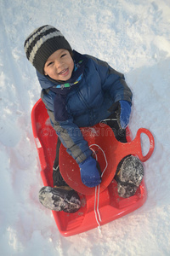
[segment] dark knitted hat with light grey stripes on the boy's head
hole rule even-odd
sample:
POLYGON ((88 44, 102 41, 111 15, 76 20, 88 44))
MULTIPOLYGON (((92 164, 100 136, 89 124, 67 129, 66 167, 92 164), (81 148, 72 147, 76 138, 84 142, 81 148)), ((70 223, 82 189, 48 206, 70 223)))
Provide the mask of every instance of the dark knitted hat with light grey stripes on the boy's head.
POLYGON ((39 73, 44 74, 43 67, 48 57, 58 49, 71 51, 71 45, 54 26, 41 26, 35 29, 26 38, 24 49, 26 57, 36 67, 39 73))

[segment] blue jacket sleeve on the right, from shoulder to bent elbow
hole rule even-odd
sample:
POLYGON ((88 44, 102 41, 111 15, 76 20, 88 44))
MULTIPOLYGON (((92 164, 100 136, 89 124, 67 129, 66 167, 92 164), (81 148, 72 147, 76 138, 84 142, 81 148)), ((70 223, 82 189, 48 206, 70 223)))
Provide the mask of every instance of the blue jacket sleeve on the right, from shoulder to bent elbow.
POLYGON ((94 61, 95 68, 101 79, 102 89, 105 93, 109 93, 113 102, 124 100, 132 104, 133 94, 127 86, 124 75, 117 72, 105 61, 100 61, 89 55, 88 58, 94 61))

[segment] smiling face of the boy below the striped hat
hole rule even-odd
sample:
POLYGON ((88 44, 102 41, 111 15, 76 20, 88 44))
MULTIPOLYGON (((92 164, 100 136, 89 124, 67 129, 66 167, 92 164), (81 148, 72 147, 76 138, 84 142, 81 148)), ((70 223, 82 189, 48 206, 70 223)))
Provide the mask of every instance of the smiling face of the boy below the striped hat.
POLYGON ((48 57, 44 73, 51 79, 66 81, 71 78, 74 61, 67 49, 58 49, 48 57))

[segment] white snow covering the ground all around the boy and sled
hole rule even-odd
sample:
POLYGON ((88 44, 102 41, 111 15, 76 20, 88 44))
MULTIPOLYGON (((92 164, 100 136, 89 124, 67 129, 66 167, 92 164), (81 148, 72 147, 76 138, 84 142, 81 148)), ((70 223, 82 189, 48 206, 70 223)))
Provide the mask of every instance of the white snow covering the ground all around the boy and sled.
MULTIPOLYGON (((170 255, 169 0, 0 2, 1 255, 170 255), (38 26, 59 28, 73 49, 108 61, 133 90, 130 128, 155 137, 144 164, 147 201, 137 211, 77 236, 59 234, 41 206, 31 108, 40 97, 23 44, 38 26)), ((147 138, 143 138, 147 151, 147 138)))

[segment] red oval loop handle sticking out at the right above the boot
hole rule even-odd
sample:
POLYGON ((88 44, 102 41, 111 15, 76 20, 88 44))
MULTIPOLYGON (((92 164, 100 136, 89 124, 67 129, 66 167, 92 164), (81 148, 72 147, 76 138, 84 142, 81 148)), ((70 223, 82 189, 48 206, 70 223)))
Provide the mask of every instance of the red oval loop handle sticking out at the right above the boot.
POLYGON ((145 128, 139 128, 139 130, 137 131, 136 137, 133 140, 133 143, 136 144, 137 146, 137 152, 136 154, 139 155, 139 159, 143 162, 145 162, 146 160, 148 160, 151 156, 151 154, 154 151, 155 148, 155 142, 154 142, 154 137, 151 134, 151 132, 145 128), (147 135, 147 137, 149 137, 150 140, 150 149, 148 151, 148 153, 146 155, 143 155, 142 153, 142 145, 141 145, 141 134, 144 133, 147 135))

